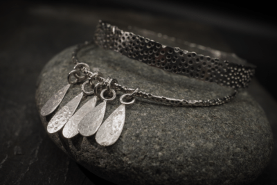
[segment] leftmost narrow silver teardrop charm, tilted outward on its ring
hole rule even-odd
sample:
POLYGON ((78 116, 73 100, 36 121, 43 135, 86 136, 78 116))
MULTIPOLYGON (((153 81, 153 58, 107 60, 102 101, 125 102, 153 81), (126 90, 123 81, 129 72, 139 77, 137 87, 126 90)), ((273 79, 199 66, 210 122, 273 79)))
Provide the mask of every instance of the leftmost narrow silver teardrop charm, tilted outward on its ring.
POLYGON ((42 116, 47 116, 54 112, 57 109, 57 106, 60 105, 62 99, 64 99, 64 95, 66 94, 67 90, 69 89, 70 84, 62 87, 56 94, 54 94, 42 107, 40 110, 40 114, 42 116))

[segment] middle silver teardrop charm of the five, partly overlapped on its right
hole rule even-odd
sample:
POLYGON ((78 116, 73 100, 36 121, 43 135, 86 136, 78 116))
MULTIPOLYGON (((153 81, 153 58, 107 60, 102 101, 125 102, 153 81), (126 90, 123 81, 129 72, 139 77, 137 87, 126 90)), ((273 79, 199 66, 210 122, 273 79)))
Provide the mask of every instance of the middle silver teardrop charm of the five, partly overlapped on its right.
POLYGON ((93 96, 91 100, 87 101, 78 111, 73 114, 73 116, 67 121, 64 129, 62 130, 62 134, 65 138, 72 138, 73 136, 77 135, 78 132, 78 125, 82 118, 86 116, 89 112, 93 110, 97 102, 97 97, 93 96))

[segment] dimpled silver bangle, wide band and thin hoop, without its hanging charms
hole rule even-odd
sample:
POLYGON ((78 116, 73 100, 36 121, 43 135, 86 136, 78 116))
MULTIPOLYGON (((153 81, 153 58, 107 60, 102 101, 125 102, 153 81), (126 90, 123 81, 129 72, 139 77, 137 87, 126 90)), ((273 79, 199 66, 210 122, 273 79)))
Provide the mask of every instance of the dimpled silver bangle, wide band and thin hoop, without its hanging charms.
MULTIPOLYGON (((152 33, 148 30, 140 30, 141 33, 152 33)), ((158 35, 158 34, 156 34, 158 35)), ((161 37, 161 34, 159 34, 161 37)), ((158 36, 159 36, 158 35, 158 36)), ((198 46, 205 53, 211 55, 222 55, 222 58, 231 60, 220 60, 219 58, 212 58, 210 56, 198 55, 195 52, 188 52, 184 49, 173 48, 165 46, 159 42, 154 42, 148 38, 140 35, 135 35, 127 31, 120 30, 117 26, 111 26, 105 21, 99 21, 95 33, 95 43, 103 49, 111 49, 122 55, 139 60, 151 67, 157 67, 165 71, 188 76, 189 78, 196 78, 206 82, 215 82, 218 85, 233 88, 233 93, 223 98, 215 98, 213 100, 184 100, 176 98, 168 98, 165 96, 155 96, 153 94, 138 91, 134 96, 146 98, 155 102, 166 103, 170 105, 177 105, 183 107, 206 107, 211 105, 221 105, 228 103, 238 93, 239 88, 248 87, 251 78, 255 73, 255 66, 247 64, 244 60, 238 58, 232 53, 224 53, 214 49, 198 46), (237 63, 235 63, 237 62, 237 63)), ((80 49, 92 44, 93 41, 85 42, 78 45, 73 51, 72 60, 74 64, 78 64, 77 54, 80 49)), ((185 44, 188 44, 185 42, 185 44)), ((193 46, 197 46, 193 44, 193 46)), ((87 68, 80 68, 82 73, 92 78, 93 73, 87 68)), ((100 77, 98 80, 104 81, 105 78, 100 77)), ((134 89, 124 87, 118 83, 112 85, 116 91, 122 91, 125 94, 132 93, 134 89)))

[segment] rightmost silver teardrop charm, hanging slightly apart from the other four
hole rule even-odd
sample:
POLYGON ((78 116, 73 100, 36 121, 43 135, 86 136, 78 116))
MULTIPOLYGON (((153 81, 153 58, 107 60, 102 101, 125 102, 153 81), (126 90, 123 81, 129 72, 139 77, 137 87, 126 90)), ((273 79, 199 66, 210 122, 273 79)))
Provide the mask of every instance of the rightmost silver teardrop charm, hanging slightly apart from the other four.
POLYGON ((101 146, 111 146, 114 144, 125 123, 125 105, 121 104, 100 126, 96 133, 96 142, 101 146))

